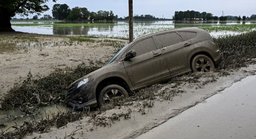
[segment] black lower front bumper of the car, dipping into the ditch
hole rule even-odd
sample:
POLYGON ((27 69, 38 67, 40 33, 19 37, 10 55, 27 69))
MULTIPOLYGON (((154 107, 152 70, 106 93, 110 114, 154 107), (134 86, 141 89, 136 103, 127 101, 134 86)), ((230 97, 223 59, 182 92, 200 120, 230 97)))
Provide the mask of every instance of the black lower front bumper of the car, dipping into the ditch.
POLYGON ((90 100, 88 102, 82 103, 82 104, 74 104, 72 102, 68 103, 69 106, 73 107, 75 110, 84 110, 84 108, 90 106, 90 109, 97 107, 97 100, 94 98, 93 100, 90 100))

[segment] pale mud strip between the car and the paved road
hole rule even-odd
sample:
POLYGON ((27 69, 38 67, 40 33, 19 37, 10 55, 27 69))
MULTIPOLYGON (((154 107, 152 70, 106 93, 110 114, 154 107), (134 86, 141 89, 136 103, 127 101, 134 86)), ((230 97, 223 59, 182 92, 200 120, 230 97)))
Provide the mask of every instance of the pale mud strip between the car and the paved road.
MULTIPOLYGON (((97 115, 98 120, 106 117, 105 122, 110 122, 107 127, 96 125, 91 122, 90 117, 68 123, 66 126, 56 128, 51 127, 49 133, 33 133, 26 138, 134 138, 156 127, 168 119, 180 114, 182 111, 195 106, 198 103, 204 103, 205 100, 214 94, 219 93, 225 88, 230 87, 247 76, 253 75, 256 71, 256 65, 250 65, 247 68, 241 68, 238 71, 230 72, 228 76, 221 76, 216 82, 204 85, 198 88, 198 83, 180 84, 179 89, 184 89, 187 93, 182 93, 173 97, 172 100, 156 99, 153 100, 152 107, 143 107, 143 101, 133 102, 130 105, 116 107, 97 115), (129 117, 120 117, 118 120, 107 120, 108 117, 120 113, 129 113, 129 117)), ((214 73, 217 74, 217 73, 214 73)), ((164 85, 159 91, 166 87, 172 87, 173 84, 164 85)), ((97 119, 97 118, 96 118, 97 119)))

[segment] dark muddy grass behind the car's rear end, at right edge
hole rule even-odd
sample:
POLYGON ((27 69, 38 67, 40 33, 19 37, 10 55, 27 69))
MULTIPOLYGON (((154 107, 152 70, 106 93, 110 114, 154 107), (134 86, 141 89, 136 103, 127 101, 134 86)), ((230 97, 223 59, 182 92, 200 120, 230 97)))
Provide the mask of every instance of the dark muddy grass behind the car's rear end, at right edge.
POLYGON ((222 53, 217 70, 235 69, 246 66, 256 58, 256 31, 240 35, 213 38, 222 53))

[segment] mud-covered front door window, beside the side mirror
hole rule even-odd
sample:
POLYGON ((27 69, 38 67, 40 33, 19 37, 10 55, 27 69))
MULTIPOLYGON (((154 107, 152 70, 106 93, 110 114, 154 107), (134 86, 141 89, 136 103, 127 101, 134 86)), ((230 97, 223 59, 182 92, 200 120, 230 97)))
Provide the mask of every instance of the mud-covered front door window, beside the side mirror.
POLYGON ((147 52, 156 50, 155 42, 152 37, 143 39, 132 45, 128 51, 135 50, 136 55, 142 55, 147 52))

